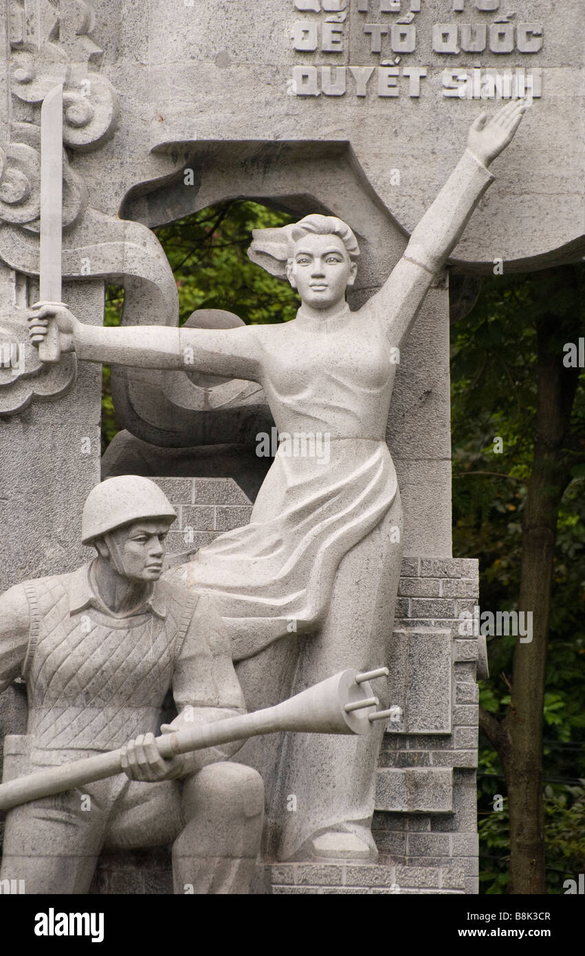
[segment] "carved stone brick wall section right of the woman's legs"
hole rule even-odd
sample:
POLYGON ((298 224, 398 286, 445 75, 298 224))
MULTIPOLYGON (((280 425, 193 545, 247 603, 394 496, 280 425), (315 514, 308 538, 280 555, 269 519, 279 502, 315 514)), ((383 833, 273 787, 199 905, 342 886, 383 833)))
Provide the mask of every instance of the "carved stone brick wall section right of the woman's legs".
POLYGON ((487 672, 484 639, 463 636, 459 615, 478 589, 475 559, 402 562, 388 661, 402 719, 386 726, 373 826, 384 858, 424 868, 427 887, 446 868, 466 893, 478 892, 476 680, 487 672))

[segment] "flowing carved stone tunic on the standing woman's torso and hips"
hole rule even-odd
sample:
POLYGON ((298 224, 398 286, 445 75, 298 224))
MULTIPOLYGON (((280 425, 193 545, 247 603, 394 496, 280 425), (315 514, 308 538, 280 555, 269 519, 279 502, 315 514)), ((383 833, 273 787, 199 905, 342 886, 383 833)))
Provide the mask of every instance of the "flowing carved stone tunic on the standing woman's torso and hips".
POLYGON ((213 594, 236 661, 322 624, 339 561, 397 491, 384 440, 395 353, 379 322, 346 306, 335 319, 301 310, 286 325, 254 331, 285 441, 249 525, 220 535, 172 575, 213 594))

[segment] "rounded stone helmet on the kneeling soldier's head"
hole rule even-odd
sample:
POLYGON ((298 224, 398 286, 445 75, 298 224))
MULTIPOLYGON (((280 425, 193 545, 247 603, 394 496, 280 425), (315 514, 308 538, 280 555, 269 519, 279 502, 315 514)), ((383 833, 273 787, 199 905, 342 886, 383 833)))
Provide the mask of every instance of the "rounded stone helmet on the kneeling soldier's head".
POLYGON ((83 506, 81 543, 91 544, 101 534, 142 518, 168 518, 172 522, 176 517, 166 495, 149 478, 107 478, 90 491, 83 506))

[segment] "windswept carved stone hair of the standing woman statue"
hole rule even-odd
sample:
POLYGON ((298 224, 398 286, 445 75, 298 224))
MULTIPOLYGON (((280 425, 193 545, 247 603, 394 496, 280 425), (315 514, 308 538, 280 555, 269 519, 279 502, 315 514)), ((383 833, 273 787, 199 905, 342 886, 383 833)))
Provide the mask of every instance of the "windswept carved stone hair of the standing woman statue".
POLYGON ((339 236, 350 258, 356 259, 359 255, 356 236, 347 223, 336 216, 321 216, 315 213, 290 226, 253 229, 252 243, 248 250, 249 259, 271 272, 271 275, 284 279, 294 243, 309 233, 339 236))

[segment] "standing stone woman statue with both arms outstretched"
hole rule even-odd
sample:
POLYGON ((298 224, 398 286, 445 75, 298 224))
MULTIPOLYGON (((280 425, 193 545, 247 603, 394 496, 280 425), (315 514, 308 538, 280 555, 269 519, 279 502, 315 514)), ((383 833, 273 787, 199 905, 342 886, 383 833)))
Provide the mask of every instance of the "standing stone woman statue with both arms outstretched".
MULTIPOLYGON (((357 312, 345 302, 357 272, 357 239, 345 223, 321 215, 254 234, 250 257, 286 275, 300 294, 301 308, 286 324, 101 329, 81 324, 62 305, 34 308, 32 340, 42 340, 54 317, 61 350, 74 350, 78 359, 166 369, 188 363, 263 386, 289 440, 279 447, 250 523, 172 572, 190 592, 213 595, 249 706, 268 703, 268 685, 282 690, 293 680, 301 689, 350 660, 368 669, 383 655, 401 568, 401 500, 385 443, 396 362, 425 293, 493 180, 487 166, 509 144, 525 109, 512 100, 475 120, 463 158, 400 262, 357 312)), ((280 859, 376 858, 370 824, 382 732, 360 746, 288 739, 278 758, 284 790, 270 793, 280 859), (283 794, 295 795, 297 812, 286 813, 283 794)), ((250 760, 265 782, 276 761, 270 747, 250 760)))

